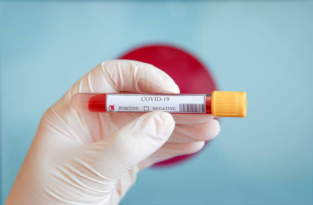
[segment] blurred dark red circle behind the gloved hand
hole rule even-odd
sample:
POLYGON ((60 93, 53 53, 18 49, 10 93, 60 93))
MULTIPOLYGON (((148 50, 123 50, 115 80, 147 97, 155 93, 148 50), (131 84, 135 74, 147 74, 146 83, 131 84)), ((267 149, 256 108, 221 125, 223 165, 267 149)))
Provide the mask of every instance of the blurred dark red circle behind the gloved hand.
MULTIPOLYGON (((137 47, 122 55, 120 59, 142 61, 163 70, 173 78, 181 93, 212 93, 217 90, 209 69, 190 52, 175 46, 150 44, 137 47)), ((154 166, 173 165, 194 154, 173 157, 154 166)))

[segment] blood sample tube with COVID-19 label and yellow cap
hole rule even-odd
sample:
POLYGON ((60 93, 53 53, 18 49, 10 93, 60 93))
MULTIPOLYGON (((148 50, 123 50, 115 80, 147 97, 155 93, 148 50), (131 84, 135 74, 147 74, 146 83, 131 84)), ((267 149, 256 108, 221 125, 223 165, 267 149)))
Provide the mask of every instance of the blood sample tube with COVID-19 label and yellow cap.
POLYGON ((78 93, 72 97, 78 112, 152 112, 212 114, 245 117, 245 92, 213 91, 212 94, 78 93))

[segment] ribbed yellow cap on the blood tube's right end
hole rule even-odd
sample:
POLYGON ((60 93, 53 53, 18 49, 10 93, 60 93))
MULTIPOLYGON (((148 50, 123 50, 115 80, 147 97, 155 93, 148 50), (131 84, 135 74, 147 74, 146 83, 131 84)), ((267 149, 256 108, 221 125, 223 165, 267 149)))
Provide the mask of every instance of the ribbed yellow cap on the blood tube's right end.
POLYGON ((247 95, 245 92, 213 91, 211 110, 216 117, 245 117, 247 95))

